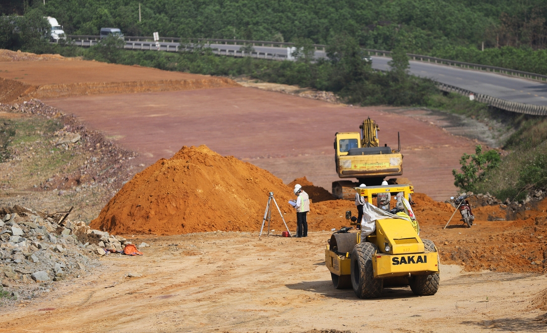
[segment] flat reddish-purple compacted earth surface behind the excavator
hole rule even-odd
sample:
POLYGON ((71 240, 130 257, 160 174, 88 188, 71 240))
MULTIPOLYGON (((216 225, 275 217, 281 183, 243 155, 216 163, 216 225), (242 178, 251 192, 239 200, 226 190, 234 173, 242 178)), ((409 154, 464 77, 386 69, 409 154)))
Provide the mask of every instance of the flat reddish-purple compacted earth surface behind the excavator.
MULTIPOLYGON (((272 172, 288 183, 306 176, 330 191, 335 132, 359 131, 370 116, 380 143, 397 148, 401 133, 404 177, 436 200, 457 192, 451 171, 476 142, 428 121, 382 107, 347 107, 279 92, 235 87, 44 100, 104 131, 150 165, 183 145, 206 144, 272 172)), ((142 160, 138 161, 141 162, 142 160)))

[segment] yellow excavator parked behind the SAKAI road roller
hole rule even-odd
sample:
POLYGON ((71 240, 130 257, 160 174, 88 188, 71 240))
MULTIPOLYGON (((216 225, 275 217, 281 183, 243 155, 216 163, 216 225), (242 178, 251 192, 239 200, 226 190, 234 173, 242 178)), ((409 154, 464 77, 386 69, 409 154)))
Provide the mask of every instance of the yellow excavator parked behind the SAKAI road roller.
POLYGON ((352 200, 355 186, 364 183, 367 186, 381 185, 386 177, 403 174, 403 155, 400 154, 401 142, 398 135, 398 149, 393 150, 387 144, 380 147, 379 126, 367 118, 359 126, 360 132, 337 132, 334 136, 336 173, 340 178, 357 178, 333 182, 333 196, 352 200))

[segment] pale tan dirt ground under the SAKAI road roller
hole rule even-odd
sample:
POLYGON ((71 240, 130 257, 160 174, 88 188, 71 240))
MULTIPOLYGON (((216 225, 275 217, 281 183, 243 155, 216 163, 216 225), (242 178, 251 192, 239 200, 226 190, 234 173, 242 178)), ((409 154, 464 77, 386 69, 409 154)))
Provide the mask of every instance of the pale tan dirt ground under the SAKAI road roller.
MULTIPOLYGON (((3 332, 544 332, 547 278, 441 265, 434 296, 336 290, 324 266, 330 232, 308 238, 201 233, 145 239, 137 257, 101 259, 94 276, 2 311, 3 332), (127 277, 128 273, 142 274, 127 277)), ((141 241, 139 239, 139 241, 141 241)))

